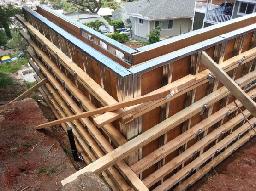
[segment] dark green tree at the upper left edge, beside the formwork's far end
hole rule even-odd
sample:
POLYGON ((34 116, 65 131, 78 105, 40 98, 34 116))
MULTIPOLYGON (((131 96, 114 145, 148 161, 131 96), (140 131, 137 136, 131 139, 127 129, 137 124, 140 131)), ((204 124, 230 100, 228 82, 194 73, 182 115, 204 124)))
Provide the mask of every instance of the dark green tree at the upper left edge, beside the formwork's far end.
MULTIPOLYGON (((0 5, 0 31, 4 31, 6 34, 6 37, 11 39, 12 35, 10 32, 10 27, 9 25, 13 23, 13 16, 15 14, 22 14, 21 9, 17 9, 15 8, 12 4, 8 4, 7 6, 1 6, 0 5)), ((4 44, 0 44, 0 46, 5 46, 6 45, 6 37, 2 36, 3 33, 0 33, 1 36, 0 38, 3 38, 0 40, 0 43, 4 43, 4 44)))

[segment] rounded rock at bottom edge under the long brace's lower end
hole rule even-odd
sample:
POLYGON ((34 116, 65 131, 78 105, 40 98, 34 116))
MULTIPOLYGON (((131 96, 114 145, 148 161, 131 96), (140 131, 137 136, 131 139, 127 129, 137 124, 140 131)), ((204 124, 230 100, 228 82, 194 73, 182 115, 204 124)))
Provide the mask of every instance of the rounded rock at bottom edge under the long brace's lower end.
POLYGON ((111 191, 101 179, 92 172, 86 172, 71 183, 63 186, 61 191, 111 191))

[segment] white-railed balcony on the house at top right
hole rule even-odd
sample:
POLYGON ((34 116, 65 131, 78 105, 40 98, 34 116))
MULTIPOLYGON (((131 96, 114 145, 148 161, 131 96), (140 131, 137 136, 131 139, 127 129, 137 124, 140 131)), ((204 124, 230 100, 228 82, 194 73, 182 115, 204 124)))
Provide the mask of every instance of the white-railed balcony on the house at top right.
MULTIPOLYGON (((206 13, 206 6, 207 6, 207 3, 196 1, 195 11, 206 13)), ((224 10, 225 10, 225 6, 214 5, 209 3, 207 18, 205 18, 206 22, 216 24, 216 23, 231 20, 230 15, 223 14, 224 10)))

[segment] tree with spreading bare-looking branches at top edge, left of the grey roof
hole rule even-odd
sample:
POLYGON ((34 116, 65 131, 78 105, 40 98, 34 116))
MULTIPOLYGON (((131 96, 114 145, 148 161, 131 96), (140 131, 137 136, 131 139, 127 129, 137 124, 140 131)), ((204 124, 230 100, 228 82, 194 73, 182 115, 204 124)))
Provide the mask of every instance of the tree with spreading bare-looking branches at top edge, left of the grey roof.
POLYGON ((101 8, 101 0, 67 0, 67 2, 79 6, 81 11, 89 9, 92 13, 97 13, 101 8))

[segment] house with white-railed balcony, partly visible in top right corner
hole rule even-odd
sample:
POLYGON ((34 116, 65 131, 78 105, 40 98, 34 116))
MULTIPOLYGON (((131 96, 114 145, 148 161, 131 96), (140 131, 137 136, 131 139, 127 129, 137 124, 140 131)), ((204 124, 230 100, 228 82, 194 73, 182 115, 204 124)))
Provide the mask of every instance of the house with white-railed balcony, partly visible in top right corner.
POLYGON ((255 9, 256 0, 208 0, 208 3, 198 0, 195 2, 193 30, 254 13, 255 9))

